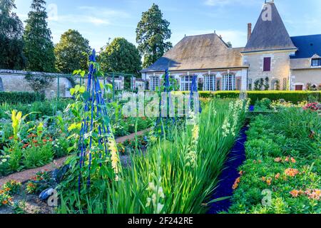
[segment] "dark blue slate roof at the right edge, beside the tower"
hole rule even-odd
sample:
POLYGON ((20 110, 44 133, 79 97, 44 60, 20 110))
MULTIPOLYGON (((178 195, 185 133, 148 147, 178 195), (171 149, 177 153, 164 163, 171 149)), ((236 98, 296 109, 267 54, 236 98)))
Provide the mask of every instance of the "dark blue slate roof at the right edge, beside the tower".
POLYGON ((321 34, 311 36, 293 36, 292 42, 298 48, 295 56, 291 58, 312 58, 312 56, 321 56, 321 34))

